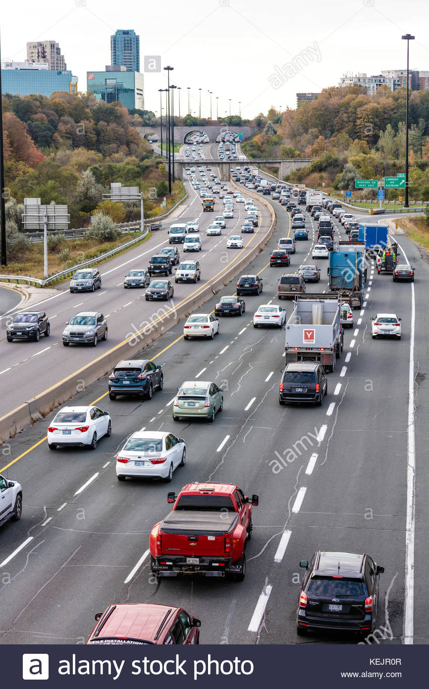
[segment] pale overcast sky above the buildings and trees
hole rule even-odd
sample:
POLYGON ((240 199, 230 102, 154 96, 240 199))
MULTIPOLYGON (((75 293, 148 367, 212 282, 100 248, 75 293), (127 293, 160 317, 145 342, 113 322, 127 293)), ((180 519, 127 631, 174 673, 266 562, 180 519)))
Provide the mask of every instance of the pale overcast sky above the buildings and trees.
MULTIPOLYGON (((252 118, 271 105, 295 107, 297 92, 337 85, 344 72, 406 68, 401 34, 416 37, 410 68, 429 70, 428 20, 424 0, 21 0, 2 4, 1 57, 25 60, 27 41, 54 39, 85 91, 86 72, 110 63, 111 34, 132 28, 141 72, 145 55, 174 67, 182 115, 190 86, 196 114, 202 88, 202 116, 210 116, 211 91, 213 118, 216 96, 220 116, 231 99, 231 114, 241 101, 252 118)), ((145 74, 145 107, 157 115, 166 81, 163 70, 145 74)))

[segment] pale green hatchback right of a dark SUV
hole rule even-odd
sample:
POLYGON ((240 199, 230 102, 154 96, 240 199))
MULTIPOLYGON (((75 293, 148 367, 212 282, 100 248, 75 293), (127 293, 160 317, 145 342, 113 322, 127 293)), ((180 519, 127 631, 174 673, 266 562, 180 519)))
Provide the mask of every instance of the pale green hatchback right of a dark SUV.
POLYGON ((214 421, 217 411, 223 409, 223 388, 213 382, 187 380, 178 388, 173 402, 173 419, 199 417, 214 421))

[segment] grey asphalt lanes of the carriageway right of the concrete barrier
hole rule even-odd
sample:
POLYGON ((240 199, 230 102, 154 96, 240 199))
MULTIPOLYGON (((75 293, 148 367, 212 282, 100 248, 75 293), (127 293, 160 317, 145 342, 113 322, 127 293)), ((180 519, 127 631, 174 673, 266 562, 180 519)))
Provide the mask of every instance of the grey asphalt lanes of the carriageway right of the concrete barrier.
MULTIPOLYGON (((148 347, 145 356, 163 367, 162 392, 145 402, 110 402, 107 378, 102 378, 76 395, 76 404, 97 402, 112 415, 112 436, 94 452, 49 452, 44 437, 52 417, 3 446, 1 473, 23 485, 23 517, 1 529, 1 593, 7 597, 2 644, 82 644, 94 614, 124 601, 183 606, 202 620, 202 644, 354 644, 353 637, 295 633, 299 562, 319 548, 365 552, 384 566, 377 617, 381 644, 404 643, 404 634, 410 635, 408 642, 428 643, 425 606, 419 605, 428 569, 429 475, 423 447, 429 415, 428 265, 405 235, 398 236, 401 252, 415 266, 415 285, 394 284, 390 276, 368 270, 364 305, 354 311, 354 328, 345 331, 344 352, 328 376, 323 406, 280 407, 284 330, 252 325, 258 305, 277 302, 282 269, 269 267, 269 255, 278 239, 291 233, 289 214, 271 203, 275 236, 246 271, 262 277, 264 291, 244 298, 242 318, 222 318, 213 341, 185 342, 181 322, 148 347), (396 311, 402 318, 401 341, 372 340, 369 318, 377 311, 396 311), (224 410, 213 424, 172 421, 176 388, 193 378, 224 387, 224 410), (140 428, 171 430, 185 438, 187 463, 168 487, 116 480, 116 452, 140 428), (289 458, 284 466, 279 457, 289 458), (151 576, 149 532, 169 511, 167 490, 178 493, 193 480, 237 482, 244 493, 259 494, 244 582, 156 583, 151 576)), ((288 271, 310 258, 315 223, 305 215, 309 241, 297 243, 288 271)), ((322 280, 311 291, 323 293, 326 261, 319 265, 322 280)), ((114 280, 121 276, 117 269, 114 280)), ((221 294, 233 294, 235 284, 221 294)), ((103 289, 108 285, 104 280, 103 289)), ((79 297, 65 294, 57 303, 66 296, 79 297)), ((215 300, 201 310, 213 311, 215 300)), ((282 305, 289 316, 291 302, 282 305)))

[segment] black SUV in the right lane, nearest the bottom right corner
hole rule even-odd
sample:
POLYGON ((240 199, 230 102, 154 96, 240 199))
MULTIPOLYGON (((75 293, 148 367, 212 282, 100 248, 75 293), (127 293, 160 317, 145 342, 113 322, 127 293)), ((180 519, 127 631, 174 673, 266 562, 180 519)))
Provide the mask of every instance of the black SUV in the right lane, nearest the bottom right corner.
POLYGON ((318 551, 306 568, 297 607, 297 633, 308 629, 353 631, 366 636, 375 628, 379 567, 369 555, 318 551))

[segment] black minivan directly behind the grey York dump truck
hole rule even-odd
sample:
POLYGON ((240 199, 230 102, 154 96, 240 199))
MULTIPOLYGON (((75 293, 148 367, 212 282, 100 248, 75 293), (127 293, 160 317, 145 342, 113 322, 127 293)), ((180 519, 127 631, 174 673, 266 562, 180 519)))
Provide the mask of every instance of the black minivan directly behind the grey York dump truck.
POLYGON ((317 362, 287 364, 279 386, 279 403, 313 402, 319 407, 328 393, 324 368, 317 362))

